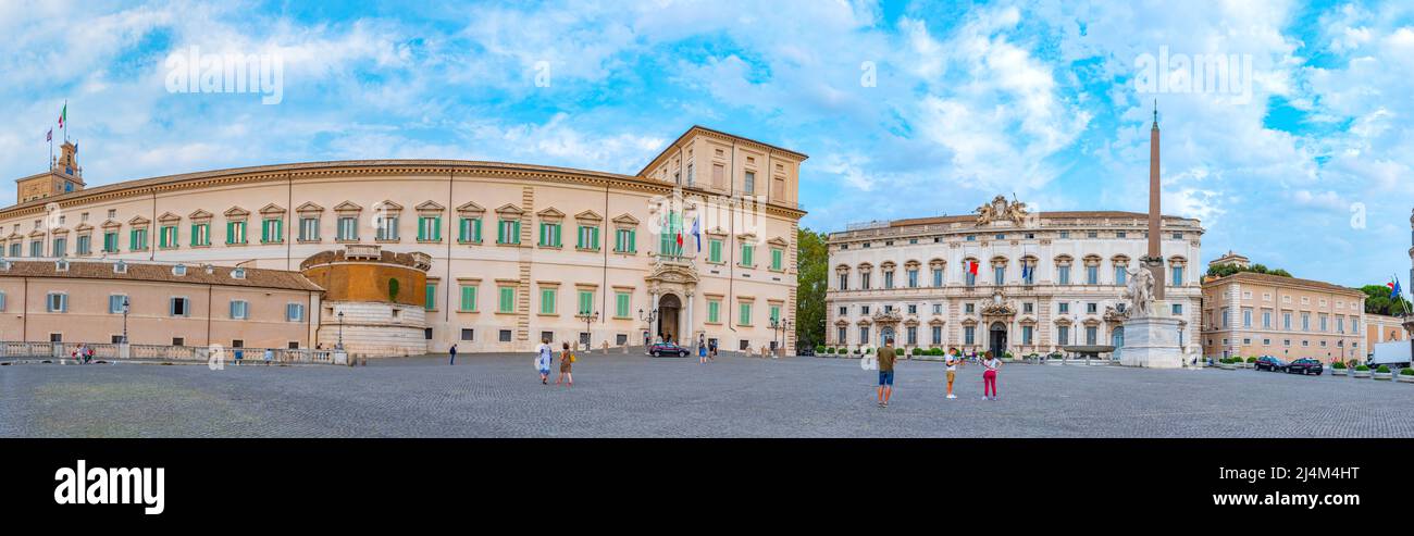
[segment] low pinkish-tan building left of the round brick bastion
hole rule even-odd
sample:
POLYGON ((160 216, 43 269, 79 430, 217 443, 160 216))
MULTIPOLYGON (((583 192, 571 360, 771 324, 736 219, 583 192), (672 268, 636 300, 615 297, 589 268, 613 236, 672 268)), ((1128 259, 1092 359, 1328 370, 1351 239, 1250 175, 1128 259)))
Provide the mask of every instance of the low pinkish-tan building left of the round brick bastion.
POLYGON ((0 262, 0 339, 312 348, 300 273, 123 260, 0 262), (127 314, 124 315, 124 305, 127 314))

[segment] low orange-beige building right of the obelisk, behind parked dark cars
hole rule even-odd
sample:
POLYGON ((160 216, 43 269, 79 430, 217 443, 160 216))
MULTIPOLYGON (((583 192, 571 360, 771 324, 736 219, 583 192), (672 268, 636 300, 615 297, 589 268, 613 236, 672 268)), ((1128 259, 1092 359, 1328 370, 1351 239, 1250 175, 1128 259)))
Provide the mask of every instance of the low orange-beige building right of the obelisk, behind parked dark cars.
MULTIPOLYGON (((1229 252, 1209 263, 1247 266, 1229 252)), ((1203 355, 1324 362, 1365 358, 1365 293, 1331 283, 1239 272, 1203 281, 1203 355)))

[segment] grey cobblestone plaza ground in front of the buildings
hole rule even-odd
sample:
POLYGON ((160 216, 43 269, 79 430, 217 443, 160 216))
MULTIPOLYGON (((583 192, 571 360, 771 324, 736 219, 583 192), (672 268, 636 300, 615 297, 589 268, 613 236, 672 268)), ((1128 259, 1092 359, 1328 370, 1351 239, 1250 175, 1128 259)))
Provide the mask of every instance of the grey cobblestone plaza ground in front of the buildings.
POLYGON ((1414 437, 1414 385, 1254 371, 590 355, 573 389, 530 355, 369 366, 0 366, 0 437, 1414 437))

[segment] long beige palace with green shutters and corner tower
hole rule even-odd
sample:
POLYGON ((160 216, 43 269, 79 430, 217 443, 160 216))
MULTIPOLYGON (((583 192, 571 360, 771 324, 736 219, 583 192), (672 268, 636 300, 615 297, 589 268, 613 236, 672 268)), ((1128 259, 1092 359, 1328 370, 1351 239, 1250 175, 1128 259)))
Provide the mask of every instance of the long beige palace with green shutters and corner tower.
POLYGON ((424 287, 403 291, 421 296, 437 352, 527 351, 542 337, 638 345, 659 334, 793 349, 805 160, 694 126, 635 175, 358 160, 86 188, 65 144, 51 171, 18 181, 20 202, 0 209, 0 243, 11 260, 277 270, 346 245, 421 253, 424 287))

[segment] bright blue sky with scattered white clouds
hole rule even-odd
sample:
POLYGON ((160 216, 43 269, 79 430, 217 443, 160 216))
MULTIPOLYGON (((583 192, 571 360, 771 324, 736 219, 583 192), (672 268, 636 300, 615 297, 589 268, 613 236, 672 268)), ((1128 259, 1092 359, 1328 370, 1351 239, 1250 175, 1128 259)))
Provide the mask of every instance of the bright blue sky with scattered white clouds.
POLYGON ((809 154, 816 231, 998 194, 1143 212, 1157 102, 1164 212, 1202 219, 1205 263, 1410 273, 1408 1, 0 0, 0 35, 10 178, 45 168, 66 102, 90 187, 351 158, 635 174, 703 124, 809 154), (281 76, 202 91, 173 58, 194 47, 281 76))

